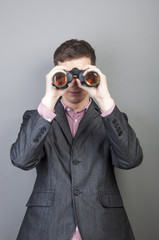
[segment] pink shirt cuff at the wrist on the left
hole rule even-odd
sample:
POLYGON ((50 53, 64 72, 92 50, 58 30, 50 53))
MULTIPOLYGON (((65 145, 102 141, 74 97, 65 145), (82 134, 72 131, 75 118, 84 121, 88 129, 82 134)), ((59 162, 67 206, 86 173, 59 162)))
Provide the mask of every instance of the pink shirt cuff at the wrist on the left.
POLYGON ((56 114, 42 103, 39 104, 37 111, 48 122, 51 122, 56 117, 56 114))

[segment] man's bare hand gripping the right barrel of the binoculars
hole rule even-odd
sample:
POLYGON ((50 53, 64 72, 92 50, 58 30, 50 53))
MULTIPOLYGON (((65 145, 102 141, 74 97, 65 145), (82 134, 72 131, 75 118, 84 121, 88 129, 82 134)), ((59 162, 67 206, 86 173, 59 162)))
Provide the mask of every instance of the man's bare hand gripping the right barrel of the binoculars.
POLYGON ((83 74, 84 76, 90 71, 97 72, 100 76, 100 84, 98 87, 86 87, 77 79, 78 86, 86 90, 90 96, 97 100, 102 111, 109 110, 114 105, 114 100, 109 93, 106 76, 93 65, 86 65, 83 70, 86 70, 83 74))

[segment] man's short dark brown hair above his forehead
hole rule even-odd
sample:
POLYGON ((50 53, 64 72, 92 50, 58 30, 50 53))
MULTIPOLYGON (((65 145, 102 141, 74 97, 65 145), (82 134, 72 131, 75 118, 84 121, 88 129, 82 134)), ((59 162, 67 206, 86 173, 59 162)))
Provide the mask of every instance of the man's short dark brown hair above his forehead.
POLYGON ((71 39, 62 43, 54 53, 54 65, 58 62, 89 57, 91 64, 96 64, 95 51, 91 45, 84 40, 71 39))

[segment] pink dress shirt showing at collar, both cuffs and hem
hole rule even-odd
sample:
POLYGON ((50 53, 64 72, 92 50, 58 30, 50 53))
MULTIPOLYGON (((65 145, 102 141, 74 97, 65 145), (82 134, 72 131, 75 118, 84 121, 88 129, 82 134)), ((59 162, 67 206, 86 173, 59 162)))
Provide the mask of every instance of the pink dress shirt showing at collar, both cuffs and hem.
MULTIPOLYGON (((91 104, 91 101, 92 100, 90 99, 89 104, 85 108, 83 108, 81 111, 75 113, 74 110, 67 107, 61 99, 61 103, 65 109, 67 120, 68 120, 68 123, 70 126, 72 137, 75 137, 79 123, 80 123, 81 119, 83 118, 84 114, 86 113, 86 111, 88 110, 88 107, 91 104)), ((106 117, 107 115, 109 115, 114 110, 114 107, 115 107, 115 104, 108 111, 102 112, 101 116, 106 117)), ((38 113, 45 120, 47 120, 49 122, 51 122, 56 117, 56 114, 53 111, 47 109, 42 103, 40 103, 38 106, 38 113)), ((80 232, 78 230, 78 226, 76 226, 75 232, 73 233, 71 240, 82 240, 80 232)))

